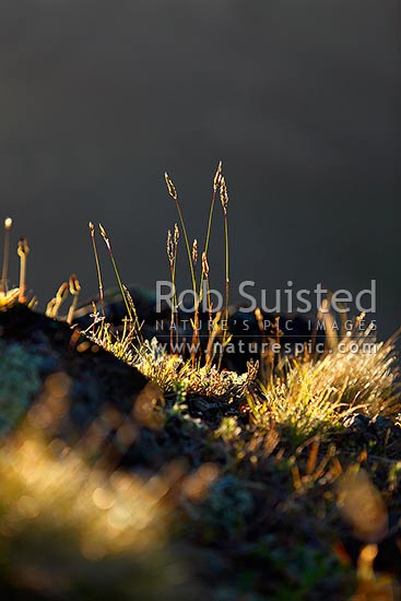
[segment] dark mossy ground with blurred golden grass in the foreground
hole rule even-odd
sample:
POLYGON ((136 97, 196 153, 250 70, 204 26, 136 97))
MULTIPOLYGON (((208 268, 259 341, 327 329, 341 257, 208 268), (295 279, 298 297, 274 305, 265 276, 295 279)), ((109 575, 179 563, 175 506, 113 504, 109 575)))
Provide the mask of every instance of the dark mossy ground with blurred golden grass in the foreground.
POLYGON ((2 362, 24 360, 0 449, 4 598, 398 598, 391 344, 213 397, 23 306, 0 327, 2 362))

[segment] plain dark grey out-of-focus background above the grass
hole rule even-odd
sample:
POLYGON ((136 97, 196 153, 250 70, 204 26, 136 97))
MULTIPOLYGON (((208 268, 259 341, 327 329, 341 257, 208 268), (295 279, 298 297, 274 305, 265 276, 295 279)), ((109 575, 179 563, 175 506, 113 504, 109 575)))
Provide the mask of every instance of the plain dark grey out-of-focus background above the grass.
MULTIPOLYGON (((95 292, 89 220, 126 282, 167 276, 163 173, 202 239, 223 158, 233 286, 377 279, 380 333, 394 330, 398 13, 397 0, 2 0, 0 216, 30 239, 42 306, 72 271, 95 292)), ((214 236, 220 285, 220 214, 214 236)))

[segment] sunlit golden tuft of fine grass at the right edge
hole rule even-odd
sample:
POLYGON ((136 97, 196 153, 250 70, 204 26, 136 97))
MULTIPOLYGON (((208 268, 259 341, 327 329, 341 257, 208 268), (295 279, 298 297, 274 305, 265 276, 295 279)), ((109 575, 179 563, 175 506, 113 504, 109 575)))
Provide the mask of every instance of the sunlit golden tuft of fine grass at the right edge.
POLYGON ((374 417, 400 410, 396 340, 373 342, 369 331, 345 337, 322 360, 288 360, 262 396, 250 396, 258 427, 271 424, 310 436, 341 426, 353 413, 374 417))

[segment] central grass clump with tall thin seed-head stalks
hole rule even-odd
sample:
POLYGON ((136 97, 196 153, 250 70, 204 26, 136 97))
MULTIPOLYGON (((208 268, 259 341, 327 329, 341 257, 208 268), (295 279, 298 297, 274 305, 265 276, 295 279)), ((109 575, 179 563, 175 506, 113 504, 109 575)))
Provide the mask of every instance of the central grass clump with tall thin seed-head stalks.
POLYGON ((219 163, 216 174, 213 180, 213 193, 210 207, 208 229, 205 235, 204 248, 202 251, 201 273, 199 280, 199 287, 197 284, 196 267, 198 262, 198 240, 194 239, 192 246, 189 241, 186 222, 184 219, 178 192, 168 176, 165 174, 165 181, 169 196, 173 198, 179 223, 184 233, 184 239, 187 250, 188 264, 190 270, 192 293, 193 293, 193 315, 190 319, 192 325, 192 335, 190 343, 190 357, 186 358, 184 354, 174 352, 174 341, 179 342, 179 328, 178 328, 178 314, 177 314, 177 291, 176 291, 176 263, 178 243, 180 238, 179 227, 177 223, 174 226, 174 234, 172 231, 167 232, 167 258, 169 263, 172 283, 174 285, 174 300, 175 306, 172 308, 170 316, 170 352, 157 349, 157 340, 145 341, 141 332, 141 326, 139 323, 137 310, 132 297, 121 281, 115 257, 113 255, 111 244, 106 234, 105 228, 99 224, 99 231, 102 237, 107 246, 109 257, 113 263, 113 268, 116 274, 116 279, 119 285, 120 294, 123 299, 127 316, 122 320, 123 325, 119 329, 113 328, 105 320, 104 315, 104 287, 102 281, 102 271, 98 259, 98 252, 95 241, 95 228, 92 222, 90 223, 92 246, 95 255, 96 271, 98 275, 99 287, 99 304, 101 310, 98 311, 94 307, 94 322, 86 330, 89 335, 96 344, 106 349, 108 352, 116 355, 118 358, 125 361, 129 365, 137 367, 152 381, 161 386, 166 392, 170 392, 180 381, 185 386, 186 390, 190 393, 199 393, 205 396, 214 396, 219 398, 233 398, 244 397, 252 387, 258 368, 249 363, 247 373, 237 375, 234 372, 227 372, 221 369, 222 356, 224 350, 229 343, 231 335, 227 330, 228 322, 228 299, 229 299, 229 271, 228 271, 228 221, 227 221, 227 205, 228 193, 225 178, 223 177, 223 166, 219 163), (215 207, 215 200, 217 191, 220 190, 221 204, 224 216, 224 264, 225 264, 225 297, 224 297, 224 311, 217 311, 213 315, 213 305, 210 299, 210 273, 208 263, 208 249, 211 237, 211 228, 213 221, 213 213, 215 207), (210 317, 210 325, 208 332, 207 349, 203 354, 200 340, 199 340, 199 311, 200 304, 207 296, 208 314, 210 317), (175 340, 174 340, 175 339, 175 340), (214 342, 221 339, 219 344, 219 355, 214 356, 213 347, 214 342))

